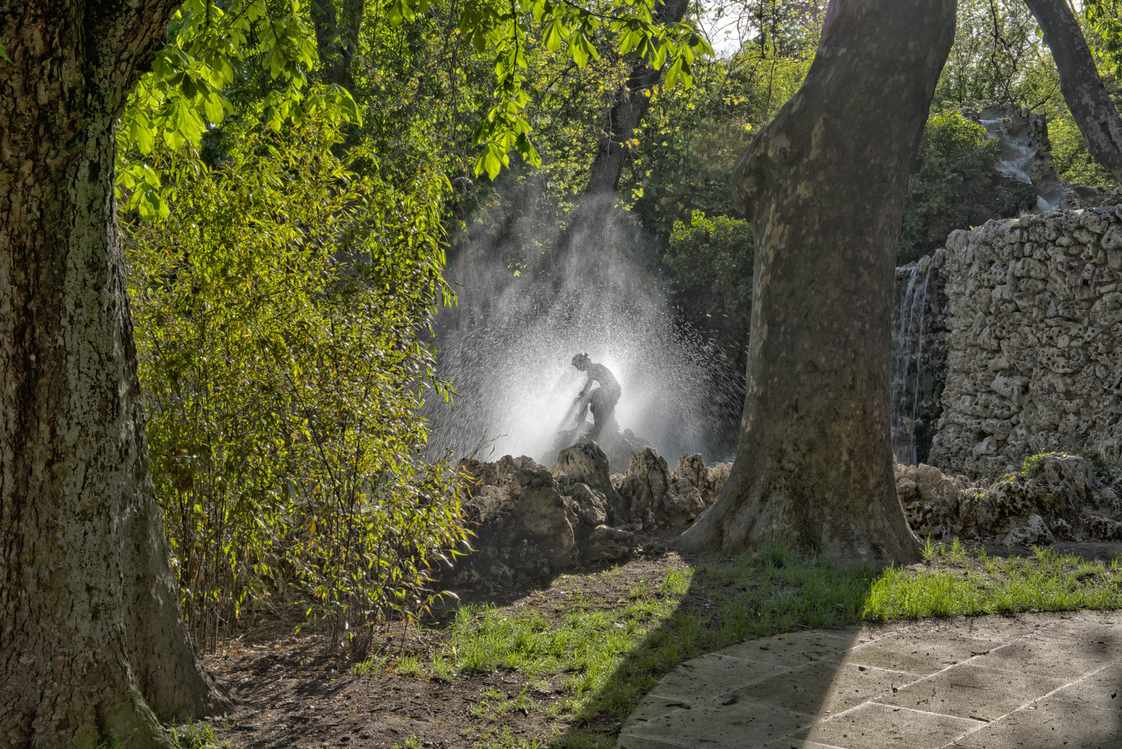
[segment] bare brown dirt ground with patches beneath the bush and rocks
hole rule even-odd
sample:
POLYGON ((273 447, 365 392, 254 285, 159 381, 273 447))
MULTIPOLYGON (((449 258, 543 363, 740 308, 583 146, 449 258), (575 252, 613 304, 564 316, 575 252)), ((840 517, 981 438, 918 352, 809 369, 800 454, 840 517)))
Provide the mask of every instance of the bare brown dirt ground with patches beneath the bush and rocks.
MULTIPOLYGON (((533 610, 550 620, 561 615, 561 604, 577 591, 607 608, 635 583, 661 581, 671 569, 686 566, 674 552, 655 550, 653 545, 646 548, 626 563, 576 569, 540 588, 463 597, 493 603, 512 614, 533 610)), ((429 622, 420 633, 410 629, 404 637, 399 624, 388 628, 378 633, 376 648, 392 657, 416 654, 429 660, 447 641, 442 629, 448 620, 450 614, 443 622, 429 622)), ((525 676, 498 670, 441 682, 387 669, 355 675, 350 673, 355 661, 331 655, 328 636, 309 627, 300 634, 224 642, 215 655, 204 657, 204 664, 238 703, 226 719, 210 721, 214 733, 220 741, 243 749, 469 749, 488 737, 496 747, 508 747, 518 739, 548 741, 570 727, 619 730, 615 722, 570 724, 551 715, 550 707, 559 712, 555 703, 567 694, 548 678, 534 681, 519 710, 497 714, 498 694, 515 700, 527 686, 525 676)))

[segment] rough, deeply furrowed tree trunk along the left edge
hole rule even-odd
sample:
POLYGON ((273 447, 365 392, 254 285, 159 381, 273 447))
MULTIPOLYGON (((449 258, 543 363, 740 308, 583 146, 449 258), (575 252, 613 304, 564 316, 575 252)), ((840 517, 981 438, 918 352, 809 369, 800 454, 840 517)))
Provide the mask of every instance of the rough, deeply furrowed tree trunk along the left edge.
POLYGON ((113 128, 177 0, 0 2, 0 736, 169 746, 219 710, 144 437, 113 128))

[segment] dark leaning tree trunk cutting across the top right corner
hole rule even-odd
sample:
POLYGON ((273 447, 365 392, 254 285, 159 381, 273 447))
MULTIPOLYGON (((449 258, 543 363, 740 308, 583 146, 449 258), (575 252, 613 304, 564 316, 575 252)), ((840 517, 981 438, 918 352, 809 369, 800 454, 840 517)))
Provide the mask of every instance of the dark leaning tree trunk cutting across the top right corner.
POLYGON ((1024 0, 1045 33, 1059 88, 1091 155, 1122 182, 1122 120, 1098 77, 1091 48, 1067 0, 1024 0))

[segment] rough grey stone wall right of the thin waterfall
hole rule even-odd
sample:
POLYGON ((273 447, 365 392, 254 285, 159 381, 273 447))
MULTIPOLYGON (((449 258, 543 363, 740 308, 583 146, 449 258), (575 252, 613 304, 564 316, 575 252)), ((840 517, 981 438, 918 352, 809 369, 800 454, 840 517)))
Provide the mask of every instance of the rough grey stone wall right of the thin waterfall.
POLYGON ((1122 415, 1122 205, 955 231, 932 264, 947 372, 928 463, 995 477, 1122 415))

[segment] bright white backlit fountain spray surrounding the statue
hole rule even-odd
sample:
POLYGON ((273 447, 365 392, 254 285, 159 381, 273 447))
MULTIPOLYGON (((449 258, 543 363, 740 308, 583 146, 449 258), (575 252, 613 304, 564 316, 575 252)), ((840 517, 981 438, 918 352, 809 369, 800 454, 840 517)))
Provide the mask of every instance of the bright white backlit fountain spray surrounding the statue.
POLYGON ((517 274, 497 259, 514 254, 509 246, 469 245, 466 277, 456 278, 461 308, 436 325, 439 366, 457 395, 453 407, 426 404, 433 455, 463 457, 482 446, 480 458, 550 459, 558 431, 574 426, 572 402, 586 381, 571 358, 588 353, 619 381, 620 430, 671 460, 683 453, 728 459, 739 412, 727 403, 743 398, 743 384, 717 346, 674 319, 653 273, 622 252, 605 256, 604 246, 633 241, 633 227, 619 222, 603 241, 542 253, 517 274))

